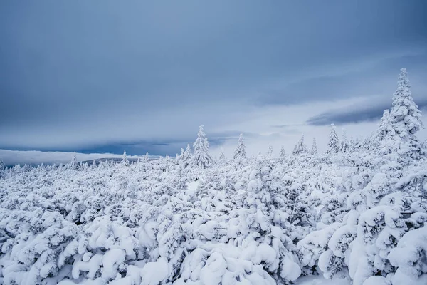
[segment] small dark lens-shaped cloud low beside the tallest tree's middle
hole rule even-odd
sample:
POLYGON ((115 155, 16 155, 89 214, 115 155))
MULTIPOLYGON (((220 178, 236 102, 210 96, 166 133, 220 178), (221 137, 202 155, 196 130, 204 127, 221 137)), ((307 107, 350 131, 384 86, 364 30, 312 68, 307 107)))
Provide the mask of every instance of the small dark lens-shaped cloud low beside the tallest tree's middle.
MULTIPOLYGON (((352 123, 371 122, 379 120, 384 113, 384 110, 391 110, 390 103, 385 103, 384 100, 375 102, 378 98, 367 99, 358 105, 352 105, 347 108, 339 108, 327 110, 324 113, 310 117, 306 123, 308 125, 346 125, 352 123)), ((421 98, 416 101, 418 108, 424 109, 427 107, 427 98, 421 98)))

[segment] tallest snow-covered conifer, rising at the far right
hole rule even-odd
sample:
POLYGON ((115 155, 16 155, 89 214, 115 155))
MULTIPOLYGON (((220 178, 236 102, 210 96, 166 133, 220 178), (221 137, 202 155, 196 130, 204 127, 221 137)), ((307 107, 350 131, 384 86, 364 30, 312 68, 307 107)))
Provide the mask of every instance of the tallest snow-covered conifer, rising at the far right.
POLYGON ((396 150, 401 155, 417 156, 421 152, 421 144, 416 133, 423 128, 421 111, 413 102, 411 85, 405 68, 401 69, 397 81, 397 90, 393 94, 391 123, 395 132, 396 150))

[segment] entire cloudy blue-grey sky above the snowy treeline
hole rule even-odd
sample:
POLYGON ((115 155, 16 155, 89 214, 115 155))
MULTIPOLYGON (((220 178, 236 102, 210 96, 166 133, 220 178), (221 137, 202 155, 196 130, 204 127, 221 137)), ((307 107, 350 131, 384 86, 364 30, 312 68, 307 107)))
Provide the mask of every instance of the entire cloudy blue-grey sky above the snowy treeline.
POLYGON ((253 154, 291 152, 302 134, 324 150, 331 123, 375 130, 400 68, 427 108, 423 11, 418 0, 4 1, 0 149, 174 155, 203 124, 214 155, 231 155, 240 133, 253 154))

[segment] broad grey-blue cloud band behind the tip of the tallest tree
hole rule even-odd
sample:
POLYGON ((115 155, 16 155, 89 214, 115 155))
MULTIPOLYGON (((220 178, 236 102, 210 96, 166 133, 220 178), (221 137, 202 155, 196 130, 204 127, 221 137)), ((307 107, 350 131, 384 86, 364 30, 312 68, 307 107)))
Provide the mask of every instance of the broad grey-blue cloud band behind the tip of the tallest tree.
MULTIPOLYGON (((388 95, 396 86, 396 74, 402 66, 418 69, 427 62, 425 48, 409 48, 385 56, 367 56, 360 62, 343 60, 336 66, 322 70, 307 70, 306 74, 294 75, 270 83, 260 90, 258 103, 262 105, 300 105, 315 101, 332 101, 357 98, 361 95, 388 95)), ((424 88, 422 68, 410 76, 415 79, 416 90, 424 88), (420 88, 421 87, 421 88, 420 88)))

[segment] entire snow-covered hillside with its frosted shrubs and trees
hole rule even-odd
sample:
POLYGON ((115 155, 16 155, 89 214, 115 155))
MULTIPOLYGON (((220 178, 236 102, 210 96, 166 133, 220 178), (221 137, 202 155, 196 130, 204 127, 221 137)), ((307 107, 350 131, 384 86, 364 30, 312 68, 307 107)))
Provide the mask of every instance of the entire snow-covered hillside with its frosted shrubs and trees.
POLYGON ((393 108, 327 153, 1 170, 1 284, 427 284, 426 145, 401 71, 393 108), (307 276, 307 277, 304 277, 307 276), (313 277, 315 276, 315 277, 313 277), (332 279, 327 281, 326 279, 332 279))

